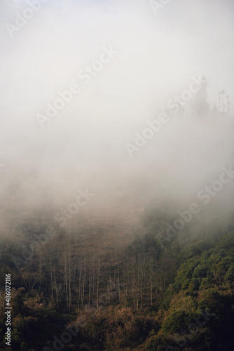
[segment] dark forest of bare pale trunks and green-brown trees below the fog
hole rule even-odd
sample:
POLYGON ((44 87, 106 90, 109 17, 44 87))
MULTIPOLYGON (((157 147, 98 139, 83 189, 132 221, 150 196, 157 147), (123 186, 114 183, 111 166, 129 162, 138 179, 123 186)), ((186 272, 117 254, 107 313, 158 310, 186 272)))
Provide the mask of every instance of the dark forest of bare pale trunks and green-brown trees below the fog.
POLYGON ((21 223, 1 239, 0 350, 233 350, 233 214, 206 215, 165 237, 173 206, 151 201, 128 244, 102 250, 101 226, 21 223))

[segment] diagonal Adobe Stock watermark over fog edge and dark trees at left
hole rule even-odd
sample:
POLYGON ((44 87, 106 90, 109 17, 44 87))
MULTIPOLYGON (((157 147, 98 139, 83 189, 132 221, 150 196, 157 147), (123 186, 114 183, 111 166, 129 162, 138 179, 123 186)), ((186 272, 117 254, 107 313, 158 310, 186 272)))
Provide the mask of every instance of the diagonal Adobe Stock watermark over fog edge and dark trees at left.
MULTIPOLYGON (((55 220, 55 222, 60 223, 60 227, 64 227, 64 225, 67 224, 67 219, 71 219, 72 216, 74 216, 78 212, 79 206, 85 206, 85 204, 87 204, 88 201, 90 201, 90 197, 95 196, 95 194, 88 192, 88 188, 85 189, 85 192, 79 189, 78 193, 79 194, 77 195, 75 202, 71 202, 71 204, 69 204, 69 206, 67 207, 67 210, 62 211, 62 214, 64 214, 64 216, 61 216, 60 212, 55 213, 53 219, 55 220)), ((16 269, 20 271, 22 267, 27 265, 27 263, 29 263, 29 261, 32 260, 34 253, 39 251, 41 247, 40 245, 44 246, 47 243, 47 241, 55 234, 57 234, 55 227, 53 225, 48 225, 48 227, 46 227, 45 232, 42 232, 40 234, 34 234, 34 238, 36 239, 36 241, 33 241, 32 244, 30 244, 29 248, 21 244, 21 257, 12 257, 16 269)))

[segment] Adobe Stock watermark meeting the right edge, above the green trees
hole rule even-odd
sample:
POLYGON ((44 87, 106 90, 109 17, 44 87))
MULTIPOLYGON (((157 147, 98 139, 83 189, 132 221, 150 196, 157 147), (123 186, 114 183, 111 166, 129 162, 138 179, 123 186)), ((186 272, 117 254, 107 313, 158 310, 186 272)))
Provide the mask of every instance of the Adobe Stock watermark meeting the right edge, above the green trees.
MULTIPOLYGON (((229 168, 222 167, 222 173, 219 176, 219 180, 214 180, 212 185, 205 186, 202 190, 200 190, 197 194, 199 200, 202 200, 202 204, 207 205, 211 201, 212 197, 216 197, 216 195, 223 190, 223 186, 230 183, 230 181, 234 178, 234 169, 233 166, 230 165, 229 168)), ((160 244, 163 245, 165 241, 170 241, 173 237, 175 237, 180 230, 183 230, 186 223, 191 222, 194 215, 200 213, 201 208, 198 203, 193 202, 188 210, 178 211, 179 217, 174 220, 173 225, 170 223, 166 223, 167 230, 164 235, 157 234, 156 238, 160 241, 160 244)))

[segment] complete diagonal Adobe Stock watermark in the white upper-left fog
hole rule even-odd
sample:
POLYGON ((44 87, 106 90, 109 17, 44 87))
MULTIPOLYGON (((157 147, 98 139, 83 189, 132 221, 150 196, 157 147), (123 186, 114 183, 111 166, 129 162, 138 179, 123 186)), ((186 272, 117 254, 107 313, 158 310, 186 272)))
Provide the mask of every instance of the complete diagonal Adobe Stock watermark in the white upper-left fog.
MULTIPOLYGON (((99 55, 98 60, 94 60, 90 66, 85 66, 78 72, 78 79, 83 81, 83 84, 88 84, 93 77, 104 69, 111 60, 118 55, 118 51, 113 50, 112 46, 102 47, 102 53, 99 55)), ((81 92, 81 87, 73 82, 69 88, 65 91, 57 91, 59 98, 56 98, 52 103, 46 103, 46 112, 44 114, 36 114, 36 119, 39 122, 41 128, 44 128, 46 122, 51 121, 59 111, 63 110, 64 107, 72 100, 74 95, 81 92)))

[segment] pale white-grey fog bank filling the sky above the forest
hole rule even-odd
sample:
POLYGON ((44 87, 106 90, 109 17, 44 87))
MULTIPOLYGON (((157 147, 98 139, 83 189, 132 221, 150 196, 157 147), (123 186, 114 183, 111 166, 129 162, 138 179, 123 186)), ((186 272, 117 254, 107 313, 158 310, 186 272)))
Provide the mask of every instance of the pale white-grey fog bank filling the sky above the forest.
MULTIPOLYGON (((162 1, 157 11, 147 0, 35 1, 19 27, 29 3, 0 4, 1 208, 56 208, 85 188, 106 201, 116 191, 179 206, 229 169, 233 1, 162 1), (219 91, 229 95, 229 117, 193 111, 200 84, 191 82, 203 76, 210 106, 219 109, 219 91), (72 85, 78 93, 51 110, 72 85), (170 110, 190 87, 187 112, 170 110), (155 120, 158 129, 136 145, 155 120)), ((229 180, 212 197, 227 212, 229 180)))

